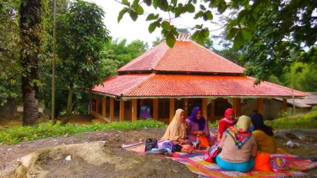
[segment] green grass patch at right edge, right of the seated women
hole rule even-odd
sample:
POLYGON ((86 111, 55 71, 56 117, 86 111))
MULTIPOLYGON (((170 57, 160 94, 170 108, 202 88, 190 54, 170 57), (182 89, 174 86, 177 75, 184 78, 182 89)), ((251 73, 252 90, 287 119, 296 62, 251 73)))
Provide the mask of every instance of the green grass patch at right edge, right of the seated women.
POLYGON ((317 108, 301 116, 282 117, 265 121, 265 124, 272 126, 273 129, 317 129, 317 108))

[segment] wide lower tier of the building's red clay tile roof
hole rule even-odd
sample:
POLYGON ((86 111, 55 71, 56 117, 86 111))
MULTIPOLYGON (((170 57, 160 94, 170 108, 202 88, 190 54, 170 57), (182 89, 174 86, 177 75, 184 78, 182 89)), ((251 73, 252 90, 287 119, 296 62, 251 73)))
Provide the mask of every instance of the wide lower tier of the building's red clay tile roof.
MULTIPOLYGON (((201 76, 173 74, 127 74, 103 82, 93 91, 122 97, 292 97, 292 90, 274 83, 254 85, 246 76, 201 76)), ((305 93, 294 90, 296 97, 305 93)))

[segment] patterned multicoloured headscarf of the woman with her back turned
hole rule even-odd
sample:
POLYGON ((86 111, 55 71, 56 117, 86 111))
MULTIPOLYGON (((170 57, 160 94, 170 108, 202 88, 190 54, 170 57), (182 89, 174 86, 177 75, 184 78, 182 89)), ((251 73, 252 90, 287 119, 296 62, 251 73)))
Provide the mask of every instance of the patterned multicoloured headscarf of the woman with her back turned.
POLYGON ((251 136, 250 126, 250 117, 243 115, 239 117, 238 122, 235 126, 229 127, 229 129, 226 129, 224 133, 227 133, 229 136, 231 136, 231 138, 234 139, 234 143, 236 144, 238 149, 240 149, 241 146, 243 146, 243 144, 246 143, 246 141, 248 141, 248 138, 250 138, 251 136))

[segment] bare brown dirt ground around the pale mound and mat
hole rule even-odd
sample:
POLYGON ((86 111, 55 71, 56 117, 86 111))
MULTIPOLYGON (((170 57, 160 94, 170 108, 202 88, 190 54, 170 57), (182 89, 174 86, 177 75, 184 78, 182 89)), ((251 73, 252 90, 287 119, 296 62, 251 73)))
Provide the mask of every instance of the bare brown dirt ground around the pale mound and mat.
MULTIPOLYGON (((197 177, 184 165, 167 158, 140 155, 128 152, 121 148, 122 144, 137 143, 146 138, 159 138, 163 136, 164 128, 139 129, 135 131, 96 131, 91 133, 79 133, 74 136, 59 136, 57 138, 43 138, 36 141, 18 143, 12 146, 0 146, 0 177, 8 177, 19 160, 25 155, 54 146, 68 145, 72 143, 86 143, 103 141, 107 150, 117 156, 137 162, 135 167, 127 170, 115 171, 112 164, 103 165, 88 164, 81 158, 64 160, 67 155, 60 155, 61 159, 42 157, 38 165, 48 171, 47 177, 197 177)), ((317 157, 317 130, 292 130, 278 131, 276 133, 279 148, 284 148, 288 153, 300 155, 303 158, 317 157), (285 143, 292 140, 299 143, 296 148, 287 148, 285 143)), ((310 177, 317 177, 317 170, 308 172, 310 177)), ((34 177, 36 177, 34 175, 34 177)))

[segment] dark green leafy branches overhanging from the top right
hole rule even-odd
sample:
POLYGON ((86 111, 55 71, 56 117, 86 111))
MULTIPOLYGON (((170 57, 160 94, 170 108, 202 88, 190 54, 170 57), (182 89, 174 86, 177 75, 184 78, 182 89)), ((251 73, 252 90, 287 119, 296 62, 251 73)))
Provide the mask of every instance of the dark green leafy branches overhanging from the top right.
MULTIPOLYGON (((185 13, 194 13, 194 19, 209 21, 213 13, 229 12, 231 17, 224 25, 226 39, 233 40, 234 49, 242 49, 246 74, 265 80, 272 74, 279 76, 281 68, 290 66, 294 61, 317 63, 317 1, 277 0, 277 1, 167 1, 167 0, 122 0, 125 7, 120 11, 118 21, 125 13, 137 20, 144 14, 143 6, 151 6, 168 13, 169 19, 163 19, 162 13, 149 13, 149 32, 161 28, 161 33, 169 47, 175 44, 178 35, 171 19, 185 13), (197 6, 200 9, 196 9, 197 6)), ((192 39, 200 44, 209 37, 209 29, 195 25, 192 39)), ((257 81, 258 83, 260 82, 257 81)))

